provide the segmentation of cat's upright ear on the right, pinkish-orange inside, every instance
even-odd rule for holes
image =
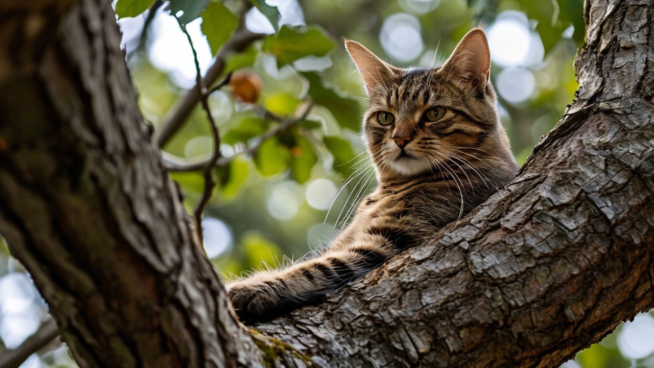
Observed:
[[[490,77],[490,50],[484,31],[475,28],[466,33],[441,70],[457,81],[483,90]]]

